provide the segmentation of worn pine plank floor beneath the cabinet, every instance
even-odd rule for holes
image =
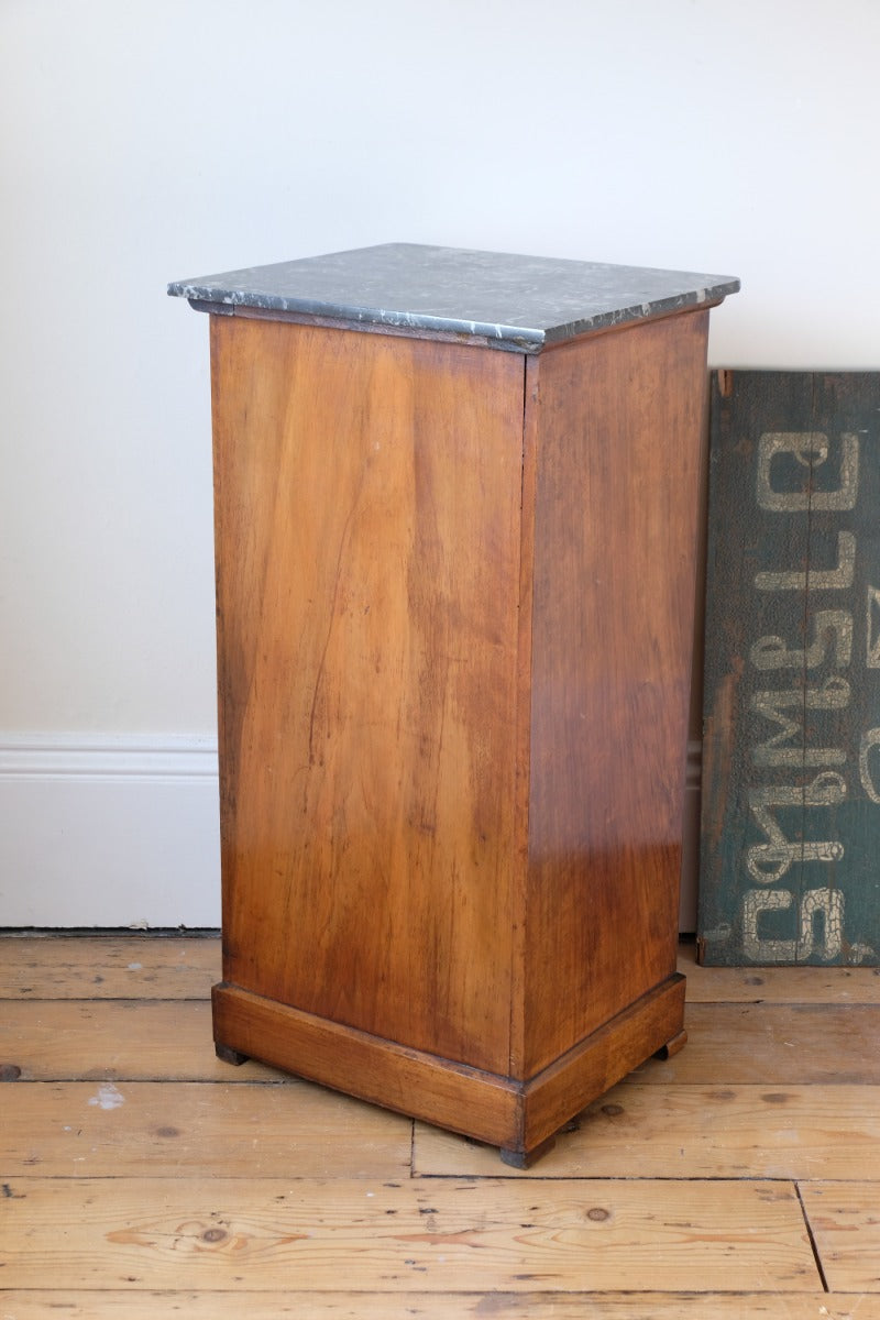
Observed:
[[[0,1320],[880,1320],[880,975],[682,970],[517,1173],[218,1063],[215,940],[0,940]]]

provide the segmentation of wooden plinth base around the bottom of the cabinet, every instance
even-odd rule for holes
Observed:
[[[669,977],[528,1081],[408,1049],[226,982],[214,986],[222,1059],[284,1068],[334,1090],[499,1146],[528,1167],[591,1101],[682,1034],[685,978]]]

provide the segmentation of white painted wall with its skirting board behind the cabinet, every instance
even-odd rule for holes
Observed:
[[[714,363],[877,368],[879,50],[875,0],[0,0],[0,925],[218,920],[208,799],[156,807],[214,730],[168,280],[398,239],[732,273]],[[98,788],[53,865],[71,766],[144,737],[142,875],[96,875]]]

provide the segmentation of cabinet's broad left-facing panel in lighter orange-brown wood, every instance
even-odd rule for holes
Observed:
[[[505,1073],[521,359],[212,321],[224,977]]]

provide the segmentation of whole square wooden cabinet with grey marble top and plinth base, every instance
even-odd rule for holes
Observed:
[[[521,1166],[681,1036],[738,286],[412,244],[170,286],[211,326],[223,1057]]]

